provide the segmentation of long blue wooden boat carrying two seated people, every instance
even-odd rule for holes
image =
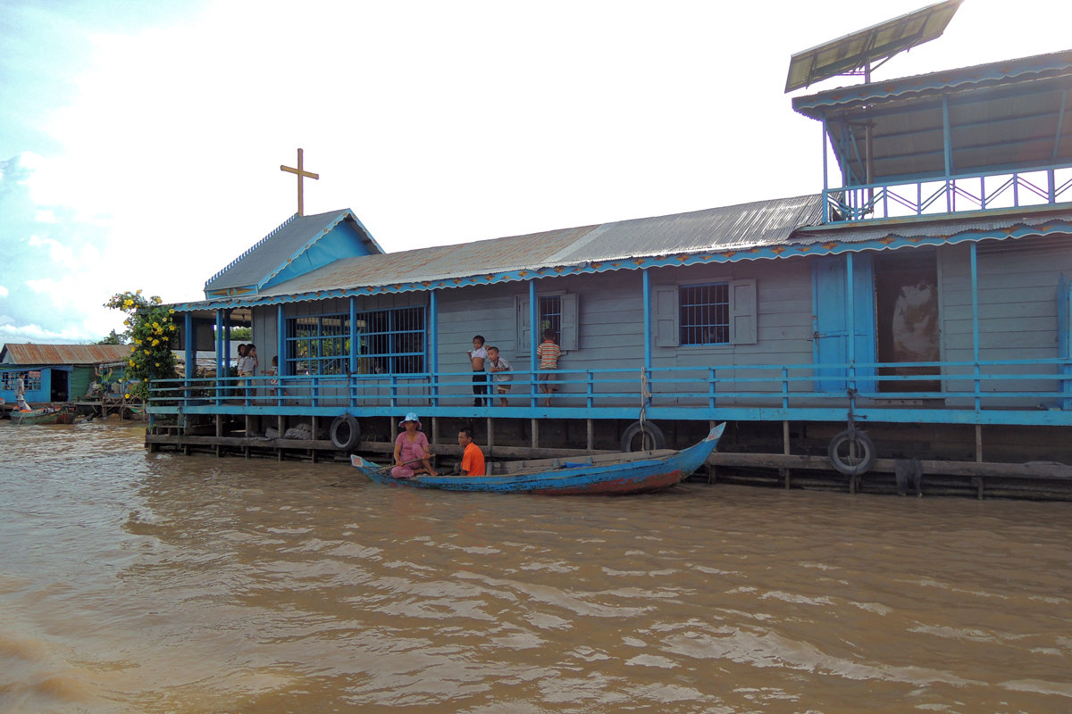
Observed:
[[[438,488],[450,491],[504,491],[542,495],[619,495],[643,493],[668,488],[699,469],[718,445],[726,424],[688,449],[599,454],[576,460],[530,459],[494,464],[486,476],[430,476],[421,474],[394,478],[390,466],[379,466],[367,458],[351,456],[353,464],[371,481],[412,488]]]

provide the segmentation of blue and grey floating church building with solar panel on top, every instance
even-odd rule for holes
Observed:
[[[726,421],[714,462],[787,485],[911,457],[980,489],[1069,475],[1022,462],[1072,464],[1072,50],[869,77],[958,4],[793,57],[787,91],[866,73],[792,98],[814,195],[400,253],[349,210],[299,210],[173,306],[178,349],[228,354],[249,325],[278,374],[154,383],[149,446],[388,451],[415,411],[434,443],[470,425],[510,457],[680,447]],[[477,334],[508,393],[474,394]]]

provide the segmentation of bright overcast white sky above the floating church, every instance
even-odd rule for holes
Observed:
[[[851,12],[846,10],[847,4]],[[205,280],[291,216],[388,252],[821,188],[789,57],[926,0],[0,0],[0,343]],[[159,6],[154,6],[159,5]],[[1068,0],[965,0],[876,78],[1069,49]]]

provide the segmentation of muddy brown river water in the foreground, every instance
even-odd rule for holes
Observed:
[[[1069,503],[0,456],[2,712],[1072,711]]]

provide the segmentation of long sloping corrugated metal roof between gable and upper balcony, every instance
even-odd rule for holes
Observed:
[[[822,203],[817,195],[757,201],[461,245],[343,258],[258,294],[419,284],[585,262],[740,250],[784,243],[794,229],[818,225],[821,217]]]

